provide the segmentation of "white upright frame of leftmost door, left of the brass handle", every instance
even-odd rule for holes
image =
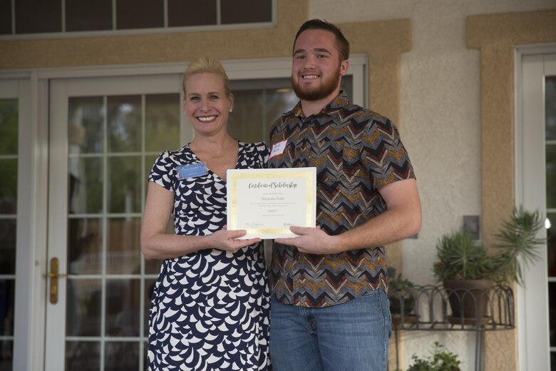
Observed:
[[[43,357],[42,254],[46,250],[46,126],[38,123],[43,112],[39,97],[46,84],[36,73],[2,73],[0,98],[19,100],[18,200],[16,230],[16,287],[14,303],[14,370],[40,370]],[[38,346],[37,346],[38,344]]]

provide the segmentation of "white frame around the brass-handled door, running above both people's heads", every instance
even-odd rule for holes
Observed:
[[[291,57],[222,61],[231,80],[289,78]],[[353,54],[348,73],[353,75],[353,103],[368,106],[367,56]],[[186,63],[41,68],[0,71],[0,83],[19,79],[26,89],[19,128],[18,248],[14,323],[14,370],[44,370],[46,328],[48,228],[48,85],[58,78],[102,78],[183,73]]]

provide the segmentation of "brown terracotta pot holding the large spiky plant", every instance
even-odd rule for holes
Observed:
[[[452,308],[452,319],[473,319],[479,322],[487,317],[487,305],[492,280],[444,280],[444,289]]]

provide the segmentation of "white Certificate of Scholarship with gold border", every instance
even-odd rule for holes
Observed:
[[[227,228],[241,239],[295,237],[290,225],[314,227],[316,168],[232,169],[227,176]]]

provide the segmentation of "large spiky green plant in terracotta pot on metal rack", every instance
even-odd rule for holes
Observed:
[[[503,285],[514,281],[523,284],[520,259],[526,265],[537,260],[536,238],[544,221],[538,211],[514,208],[510,220],[504,220],[493,252],[460,230],[443,235],[436,244],[438,261],[433,265],[436,279],[448,293],[453,317],[482,319],[493,283]]]

